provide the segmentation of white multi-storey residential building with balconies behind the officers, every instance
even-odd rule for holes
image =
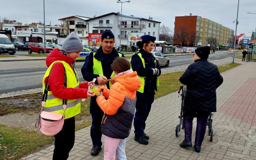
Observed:
[[[128,33],[138,32],[146,35],[155,36],[156,40],[159,38],[160,23],[149,19],[134,17],[133,15],[122,15],[119,13],[108,13],[92,19],[86,20],[89,24],[89,33],[102,33],[109,29],[115,35],[115,45],[120,44],[120,26],[121,26],[121,44],[128,44]],[[136,45],[135,42],[128,45]]]

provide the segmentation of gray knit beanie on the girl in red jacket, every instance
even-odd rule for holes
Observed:
[[[71,32],[64,40],[61,50],[64,52],[77,52],[82,51],[84,48],[80,38],[76,36],[75,32]]]

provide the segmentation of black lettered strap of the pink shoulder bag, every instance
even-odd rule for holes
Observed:
[[[55,62],[57,63],[57,62]],[[54,63],[54,64],[55,64]],[[53,65],[54,65],[53,64]],[[61,63],[63,65],[63,63]],[[52,66],[53,66],[52,65]],[[63,68],[64,68],[64,86],[65,88],[67,88],[67,74],[66,74],[66,69],[65,69],[65,66],[63,65]],[[51,70],[49,72],[49,76],[50,76],[50,73],[51,73]],[[46,84],[45,84],[45,88],[44,88],[44,94],[43,94],[43,99],[42,99],[42,109],[41,109],[41,112],[43,110],[43,107],[46,103],[46,99],[47,99],[47,95],[48,95],[48,89],[49,89],[49,84],[48,84],[48,81],[49,81],[49,76],[47,78],[47,81],[46,81]],[[65,117],[65,111],[66,111],[66,108],[67,108],[67,100],[62,100],[62,109],[64,111],[64,117]]]

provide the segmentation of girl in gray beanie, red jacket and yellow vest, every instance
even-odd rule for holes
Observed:
[[[44,111],[60,113],[63,115],[63,100],[67,100],[65,120],[62,130],[55,134],[53,158],[68,159],[68,154],[75,142],[75,116],[80,113],[80,99],[94,96],[88,87],[93,82],[79,83],[75,68],[75,59],[83,50],[83,44],[75,32],[71,32],[61,47],[54,48],[46,57],[48,67],[43,78],[43,91],[48,81]],[[66,77],[65,77],[66,76]],[[66,81],[67,87],[64,83]]]

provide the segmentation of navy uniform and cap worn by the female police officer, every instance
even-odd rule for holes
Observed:
[[[149,40],[151,42],[155,42],[156,39],[151,40],[153,36],[142,36],[143,40]],[[154,37],[156,38],[156,37]],[[161,75],[161,69],[156,61],[154,62],[155,57],[152,54],[147,53],[142,48],[139,51],[141,53],[141,57],[145,61],[145,68],[143,67],[142,61],[137,53],[132,55],[131,66],[133,71],[137,71],[138,76],[145,77],[145,86],[144,92],[136,92],[137,101],[136,101],[136,113],[134,116],[134,133],[135,137],[143,137],[144,130],[146,127],[146,120],[148,114],[151,109],[151,105],[154,102],[155,91],[157,91],[156,87],[156,78]],[[153,69],[158,69],[158,74],[153,75]]]

